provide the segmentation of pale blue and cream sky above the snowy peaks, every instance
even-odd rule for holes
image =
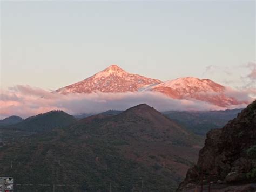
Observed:
[[[1,50],[3,88],[56,89],[111,64],[237,86],[255,62],[255,2],[2,1]]]

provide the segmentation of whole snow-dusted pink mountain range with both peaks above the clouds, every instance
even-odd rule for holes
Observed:
[[[62,94],[138,91],[159,92],[172,99],[195,99],[221,107],[248,104],[246,100],[239,101],[235,97],[228,95],[225,86],[217,84],[210,79],[185,77],[162,82],[158,79],[128,73],[117,65],[111,65],[89,78],[56,90],[56,92]]]

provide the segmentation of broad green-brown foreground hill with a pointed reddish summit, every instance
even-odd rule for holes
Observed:
[[[17,183],[72,185],[55,191],[107,191],[110,185],[113,191],[173,191],[196,161],[201,143],[142,104],[2,147],[1,174],[14,176]],[[22,188],[28,191],[17,186]]]

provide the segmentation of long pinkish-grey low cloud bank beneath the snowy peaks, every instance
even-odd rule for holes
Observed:
[[[231,93],[232,94],[232,93]],[[246,93],[241,94],[244,98]],[[198,100],[175,100],[158,92],[129,93],[91,93],[62,95],[28,85],[17,85],[8,90],[1,90],[0,118],[18,115],[27,118],[53,109],[63,110],[69,114],[100,113],[109,109],[125,110],[134,105],[146,103],[158,111],[169,110],[221,110],[207,102]],[[241,108],[245,105],[230,106]]]

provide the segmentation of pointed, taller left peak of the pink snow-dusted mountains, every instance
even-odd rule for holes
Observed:
[[[97,91],[122,93],[138,91],[140,87],[158,83],[161,83],[161,81],[139,76],[138,74],[131,74],[117,65],[111,65],[89,78],[56,91],[62,94],[92,93]]]

